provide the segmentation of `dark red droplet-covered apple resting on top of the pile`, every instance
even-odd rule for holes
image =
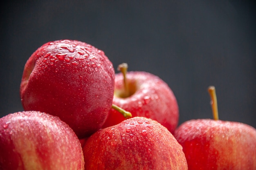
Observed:
[[[103,51],[76,40],[48,42],[25,64],[22,106],[60,117],[83,138],[106,120],[114,79],[115,70]]]

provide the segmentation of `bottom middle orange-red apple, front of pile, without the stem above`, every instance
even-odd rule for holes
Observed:
[[[171,132],[145,117],[95,132],[83,152],[86,170],[187,170],[182,147]]]

